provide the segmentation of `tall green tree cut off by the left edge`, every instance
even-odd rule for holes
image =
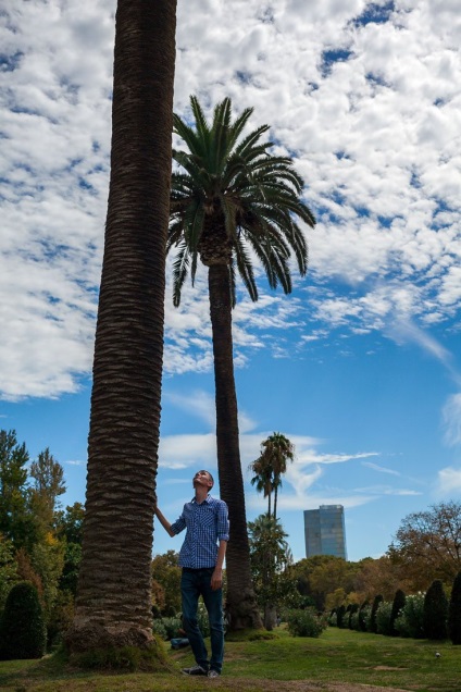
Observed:
[[[0,430],[0,533],[21,547],[33,531],[27,508],[27,468],[25,444],[20,445],[14,430]]]

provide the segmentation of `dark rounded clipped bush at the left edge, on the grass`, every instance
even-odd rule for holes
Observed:
[[[8,594],[0,623],[0,658],[41,658],[47,646],[47,628],[33,584],[23,581]]]

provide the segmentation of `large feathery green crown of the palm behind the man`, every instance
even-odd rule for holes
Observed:
[[[289,257],[296,257],[304,275],[308,246],[296,219],[311,227],[315,219],[300,199],[301,176],[288,157],[273,156],[272,141],[261,141],[269,131],[262,125],[241,137],[253,109],[247,108],[232,122],[232,103],[219,103],[209,125],[196,97],[190,98],[195,128],[174,115],[174,132],[188,151],[173,150],[179,170],[173,172],[171,223],[167,250],[176,248],[174,305],[189,267],[191,280],[197,257],[207,267],[226,264],[235,305],[235,268],[252,300],[258,288],[251,250],[262,263],[272,288],[291,292]]]

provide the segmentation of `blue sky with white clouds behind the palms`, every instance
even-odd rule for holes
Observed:
[[[0,10],[0,428],[32,459],[50,448],[64,506],[85,499],[114,10]],[[178,0],[175,112],[190,94],[208,114],[226,96],[252,107],[317,219],[292,294],[258,271],[259,301],[240,286],[233,316],[247,517],[266,507],[248,466],[281,432],[296,560],[306,509],[344,505],[359,560],[410,512],[461,501],[460,46],[458,0]],[[216,459],[205,274],[175,309],[166,271],[158,497],[173,521]],[[155,526],[154,553],[180,544]]]

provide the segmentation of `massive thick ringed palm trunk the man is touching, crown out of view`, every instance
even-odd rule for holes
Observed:
[[[71,652],[153,646],[153,508],[170,212],[175,0],[119,0],[112,150]]]

